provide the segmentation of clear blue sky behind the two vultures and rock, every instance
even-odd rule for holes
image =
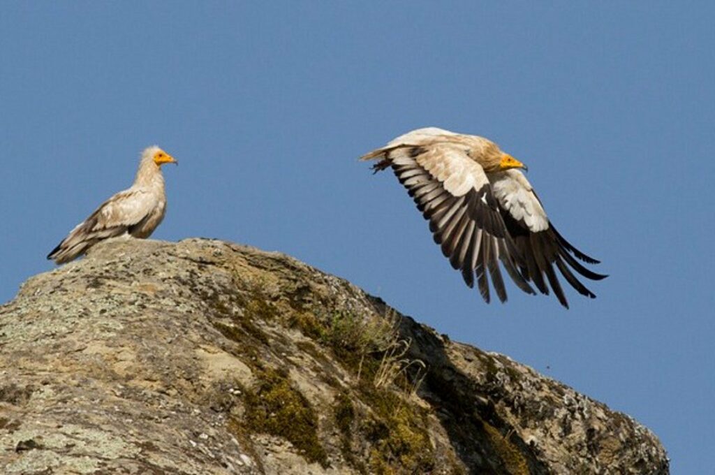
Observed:
[[[157,143],[153,237],[280,250],[715,466],[715,7],[707,2],[4,2],[0,301]],[[357,158],[410,129],[526,162],[611,275],[596,300],[485,305],[412,200]]]

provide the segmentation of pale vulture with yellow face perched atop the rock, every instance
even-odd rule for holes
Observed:
[[[161,170],[164,163],[177,161],[157,146],[145,149],[134,185],[102,203],[84,222],[75,226],[47,258],[63,264],[109,237],[149,237],[167,210]]]

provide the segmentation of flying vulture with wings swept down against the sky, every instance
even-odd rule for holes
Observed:
[[[360,160],[378,160],[375,172],[392,167],[429,220],[435,243],[470,288],[476,280],[485,302],[490,300],[488,275],[499,300],[506,301],[499,261],[518,288],[535,295],[533,283],[548,295],[551,285],[566,308],[553,266],[578,293],[596,297],[573,270],[591,280],[606,278],[578,262],[598,260],[558,233],[518,170],[526,165],[494,142],[428,127],[401,135]]]

